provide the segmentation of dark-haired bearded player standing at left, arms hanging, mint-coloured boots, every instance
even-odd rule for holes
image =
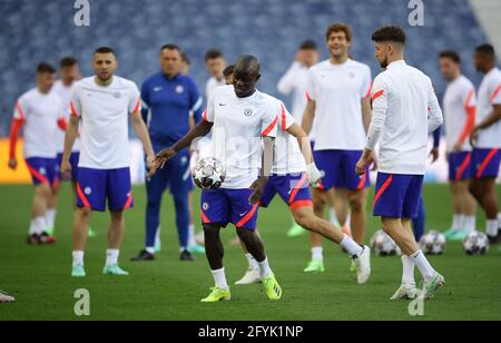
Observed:
[[[124,212],[134,206],[130,183],[129,128],[143,143],[148,177],[156,171],[155,153],[148,129],[140,114],[141,104],[137,86],[115,76],[117,58],[108,47],[94,55],[94,77],[75,85],[71,96],[71,117],[65,137],[61,174],[69,178],[71,151],[80,131],[80,160],[78,163],[78,209],[73,222],[73,267],[71,275],[86,276],[84,252],[87,244],[89,218],[92,210],[105,212],[108,203],[110,225],[105,275],[128,275],[118,265],[125,232]]]

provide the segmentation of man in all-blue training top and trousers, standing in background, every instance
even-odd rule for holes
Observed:
[[[146,121],[155,151],[174,145],[190,129],[190,118],[202,118],[203,99],[188,76],[181,75],[180,49],[166,45],[160,49],[161,71],[148,78],[141,88],[143,119]],[[167,188],[176,207],[180,259],[194,261],[189,252],[189,196],[193,190],[189,150],[184,149],[165,168],[146,180],[146,248],[132,258],[135,262],[155,259],[155,243],[160,226],[161,198]],[[194,229],[194,228],[193,228]],[[194,233],[191,233],[191,236]],[[158,252],[159,247],[157,247]]]

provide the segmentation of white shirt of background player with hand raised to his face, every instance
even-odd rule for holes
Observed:
[[[281,94],[292,95],[292,115],[297,125],[303,125],[303,115],[307,105],[306,87],[308,82],[310,68],[298,61],[292,63],[291,68],[281,78],[277,89]],[[312,127],[310,138],[315,140],[316,127]]]

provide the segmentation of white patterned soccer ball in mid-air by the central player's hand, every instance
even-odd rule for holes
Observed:
[[[225,166],[213,157],[203,158],[191,170],[195,185],[202,189],[217,189],[226,178]]]

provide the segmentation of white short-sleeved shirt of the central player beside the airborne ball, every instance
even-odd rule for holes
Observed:
[[[281,102],[261,91],[238,98],[233,86],[214,89],[204,120],[214,122],[214,158],[225,165],[222,188],[248,189],[262,168],[262,137],[276,137]]]

